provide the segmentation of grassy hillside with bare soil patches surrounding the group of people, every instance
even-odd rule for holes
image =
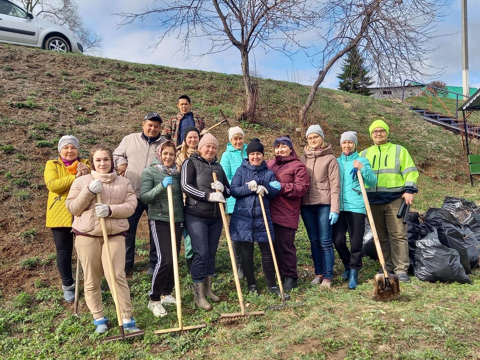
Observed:
[[[242,80],[238,75],[180,70],[77,54],[55,54],[37,49],[0,45],[0,349],[6,359],[473,359],[480,356],[478,306],[480,273],[474,285],[402,285],[402,300],[378,304],[370,299],[375,264],[366,260],[362,285],[348,291],[337,276],[333,291],[310,286],[313,275],[310,245],[303,226],[296,239],[300,288],[295,300],[306,306],[235,324],[220,324],[220,312],[237,312],[236,294],[222,239],[217,255],[216,285],[223,302],[213,312],[193,306],[191,282],[184,260],[180,273],[184,323],[206,322],[206,329],[182,335],[156,336],[153,330],[172,327],[175,312],[156,320],[146,309],[150,279],[144,275],[148,253],[145,219],[139,226],[135,274],[129,279],[134,316],[146,330],[135,342],[100,345],[93,336],[91,315],[80,301],[81,318],[72,316],[72,305],[62,299],[55,248],[44,228],[47,190],[45,162],[57,155],[61,135],[80,139],[86,155],[95,144],[115,147],[130,132],[140,131],[148,111],[162,118],[176,114],[176,99],[186,93],[192,111],[208,125],[222,109],[231,123],[241,110]],[[259,108],[255,124],[240,123],[248,139],[259,137],[266,157],[273,141],[288,133],[298,153],[304,144],[298,127],[298,102],[308,88],[270,79],[259,79]],[[419,120],[405,106],[322,89],[310,112],[320,123],[326,140],[340,153],[340,134],[359,133],[359,148],[370,145],[368,126],[383,118],[391,140],[406,146],[420,169],[420,192],[414,209],[424,212],[439,206],[445,195],[480,199],[471,188],[460,138]],[[225,149],[227,128],[213,132]],[[256,261],[259,268],[259,259]],[[260,275],[263,279],[263,276]],[[242,283],[245,286],[246,284]],[[264,288],[264,281],[260,282]],[[278,303],[271,296],[246,295],[249,309]],[[106,311],[114,319],[109,291]],[[116,329],[110,334],[115,334]]]

